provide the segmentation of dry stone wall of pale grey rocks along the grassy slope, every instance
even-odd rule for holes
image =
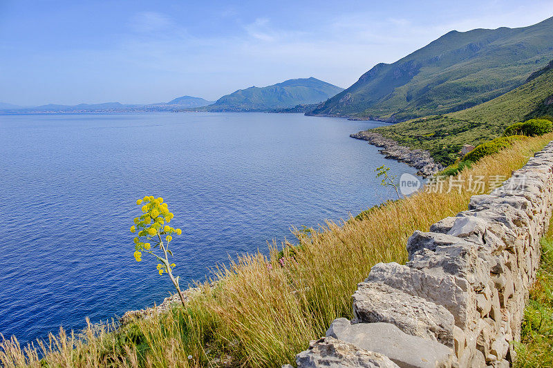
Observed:
[[[552,204],[553,142],[467,211],[415,231],[407,264],[376,264],[355,318],[332,322],[298,367],[509,367]]]

